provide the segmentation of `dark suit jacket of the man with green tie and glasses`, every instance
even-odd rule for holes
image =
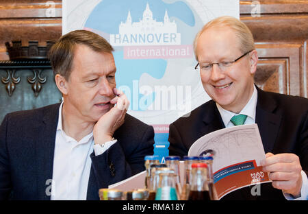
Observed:
[[[308,171],[308,99],[269,93],[257,88],[255,123],[261,134],[265,152],[294,153],[300,157],[303,170]],[[194,141],[201,136],[225,128],[213,100],[192,110],[170,124],[169,154],[185,156]],[[214,160],[215,161],[215,160]],[[285,199],[281,190],[271,183],[261,185],[261,196],[253,197],[250,188],[224,196],[231,200]]]

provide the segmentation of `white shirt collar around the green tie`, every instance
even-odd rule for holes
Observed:
[[[216,103],[216,106],[218,108],[218,111],[220,112],[222,121],[224,122],[224,126],[227,127],[228,123],[230,122],[230,119],[234,115],[247,115],[248,117],[253,119],[253,121],[255,121],[255,108],[257,106],[257,97],[258,97],[257,88],[255,88],[255,85],[253,85],[253,95],[251,95],[251,99],[249,99],[248,103],[240,111],[239,114],[235,114],[234,112],[225,110],[218,103]]]

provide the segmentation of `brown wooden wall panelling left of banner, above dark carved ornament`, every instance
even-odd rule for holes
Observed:
[[[62,34],[62,1],[6,0],[0,3],[0,60],[9,60],[5,42],[57,40]]]

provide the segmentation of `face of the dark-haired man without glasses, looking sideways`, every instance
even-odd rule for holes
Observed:
[[[112,108],[115,97],[116,66],[112,53],[93,51],[77,45],[73,67],[62,94],[70,114],[86,122],[96,122]]]

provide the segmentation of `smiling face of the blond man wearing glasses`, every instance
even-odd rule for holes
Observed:
[[[230,62],[242,56],[240,43],[229,27],[211,27],[198,38],[196,53],[200,67],[204,63]],[[222,108],[240,112],[253,94],[253,75],[257,51],[251,51],[222,71],[217,64],[210,71],[200,71],[203,88]]]

